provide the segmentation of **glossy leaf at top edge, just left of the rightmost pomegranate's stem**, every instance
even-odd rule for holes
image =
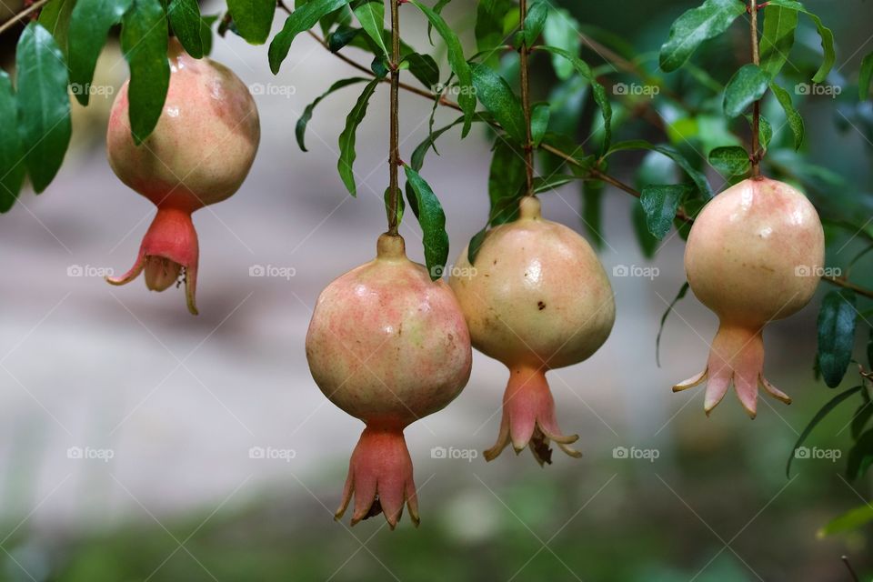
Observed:
[[[669,73],[685,65],[697,46],[728,30],[745,12],[746,3],[738,0],[706,0],[703,5],[679,16],[670,26],[667,42],[661,46],[661,69]]]

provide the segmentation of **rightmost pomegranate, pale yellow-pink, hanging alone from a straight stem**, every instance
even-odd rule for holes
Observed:
[[[775,180],[752,178],[731,186],[703,208],[685,250],[688,284],[718,316],[707,367],[673,391],[708,379],[707,415],[733,383],[756,415],[758,385],[791,403],[764,377],[764,326],[808,304],[824,266],[825,236],[806,196]]]

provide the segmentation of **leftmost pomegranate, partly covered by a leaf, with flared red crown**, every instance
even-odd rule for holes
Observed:
[[[146,270],[146,286],[163,291],[184,275],[188,310],[197,313],[197,233],[191,213],[233,196],[255,159],[260,125],[239,77],[208,58],[187,55],[170,39],[170,85],[155,131],[140,146],[130,133],[127,85],[106,134],[109,165],[125,185],[157,206],[133,268],[108,277],[124,285]]]

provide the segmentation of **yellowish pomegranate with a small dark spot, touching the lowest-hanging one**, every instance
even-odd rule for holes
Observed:
[[[509,368],[497,444],[529,445],[540,465],[551,463],[549,441],[572,457],[577,435],[557,426],[549,369],[577,364],[597,351],[612,330],[616,304],[607,274],[584,238],[540,214],[526,197],[520,216],[490,230],[471,266],[462,253],[450,281],[473,346]]]

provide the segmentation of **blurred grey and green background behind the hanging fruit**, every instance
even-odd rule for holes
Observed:
[[[219,10],[211,4],[204,14]],[[585,25],[643,55],[657,51],[670,23],[697,3],[654,4],[565,2]],[[873,48],[873,5],[806,5],[838,39],[831,82],[854,82]],[[470,6],[457,1],[445,12],[465,38]],[[0,20],[18,10],[3,5]],[[428,49],[422,19],[405,14],[406,40]],[[276,16],[276,25],[283,21]],[[7,71],[14,36],[3,39]],[[818,38],[808,23],[798,45],[815,58]],[[724,83],[747,59],[746,46],[738,27],[696,60],[723,62],[724,74],[710,73]],[[181,290],[158,295],[141,281],[103,281],[110,269],[133,264],[154,214],[106,163],[113,95],[96,95],[87,110],[75,105],[75,143],[61,174],[38,197],[25,191],[0,219],[0,579],[851,580],[842,556],[862,579],[873,576],[869,529],[817,537],[830,519],[870,499],[869,479],[842,475],[848,416],[832,417],[809,442],[843,458],[798,459],[786,477],[794,441],[832,396],[812,372],[819,298],[766,333],[768,378],[795,404],[762,396],[750,422],[728,396],[707,418],[701,389],[673,395],[670,386],[702,369],[717,319],[689,294],[667,319],[657,366],[658,322],[685,281],[684,243],[668,236],[648,260],[630,218],[637,202],[612,188],[603,199],[607,273],[652,268],[648,276],[611,277],[617,322],[607,344],[549,374],[558,420],[579,434],[585,456],[556,452],[554,464],[540,468],[528,451],[507,452],[486,463],[480,452],[497,437],[507,370],[477,354],[463,394],[406,430],[421,527],[414,531],[408,518],[395,532],[382,517],[353,529],[347,517],[334,522],[363,426],[312,382],[304,339],[320,290],[370,260],[384,230],[386,87],[358,136],[365,146],[353,199],[336,175],[336,139],[356,91],[319,105],[309,153],[298,150],[294,127],[308,103],[354,71],[305,35],[278,76],[266,47],[232,34],[216,37],[212,56],[260,87],[263,138],[239,193],[196,214],[200,316],[187,315]],[[369,63],[364,54],[358,60]],[[650,59],[645,66],[654,70]],[[95,85],[117,87],[125,76],[112,45]],[[549,83],[537,73],[539,97]],[[409,156],[426,136],[431,105],[403,97]],[[827,96],[804,105],[806,148],[846,180],[848,192],[839,194],[868,204],[860,195],[871,179],[869,135],[850,115],[843,117],[851,127],[835,123],[836,110]],[[627,135],[653,131],[641,127],[628,125]],[[664,141],[657,133],[651,139]],[[446,208],[456,256],[487,216],[490,142],[479,130],[441,143],[424,176]],[[639,162],[625,156],[612,172],[632,182]],[[580,198],[578,186],[543,195],[544,214],[585,232]],[[406,220],[401,234],[422,260],[415,221]],[[854,277],[870,286],[865,269]]]

